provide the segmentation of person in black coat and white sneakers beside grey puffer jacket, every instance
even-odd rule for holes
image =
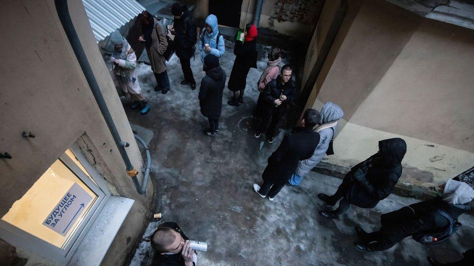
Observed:
[[[280,146],[268,158],[268,165],[263,171],[263,184],[254,184],[254,191],[270,201],[285,186],[289,177],[295,172],[298,162],[313,155],[320,136],[313,132],[313,127],[321,120],[317,110],[308,109],[303,115],[302,125],[283,137]]]

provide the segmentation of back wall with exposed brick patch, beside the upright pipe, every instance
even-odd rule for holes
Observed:
[[[254,20],[256,0],[243,0],[240,28]],[[309,39],[318,21],[324,0],[264,0],[260,27],[295,38]]]

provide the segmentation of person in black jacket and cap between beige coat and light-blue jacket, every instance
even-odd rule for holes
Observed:
[[[171,14],[174,16],[174,31],[171,32],[175,35],[174,48],[185,77],[181,84],[190,83],[191,89],[194,90],[196,89],[196,81],[191,70],[191,57],[196,50],[194,46],[197,41],[196,23],[194,23],[185,5],[173,4]]]

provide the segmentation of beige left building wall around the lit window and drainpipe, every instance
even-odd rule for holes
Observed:
[[[119,134],[123,141],[130,143],[127,153],[139,170],[143,165],[142,157],[82,2],[69,0],[68,3]],[[0,159],[0,184],[4,190],[0,195],[0,215],[3,216],[12,203],[23,196],[58,156],[77,142],[106,180],[111,193],[135,200],[117,236],[120,239],[115,241],[122,245],[111,246],[109,252],[114,256],[106,263],[121,265],[147,222],[152,182],[149,182],[146,197],[138,195],[56,15],[54,1],[11,0],[1,9],[0,15],[3,36],[0,49],[5,51],[0,66],[3,73],[0,80],[0,152],[13,156],[12,159]],[[23,138],[21,132],[24,130],[33,132],[36,137]],[[140,182],[142,178],[140,173]],[[21,252],[20,247],[17,250]],[[28,257],[30,254],[22,255]]]

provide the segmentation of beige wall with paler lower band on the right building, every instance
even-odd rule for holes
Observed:
[[[345,112],[323,166],[347,171],[401,137],[406,184],[433,188],[472,167],[474,31],[384,1],[348,1],[347,16],[306,104]]]

